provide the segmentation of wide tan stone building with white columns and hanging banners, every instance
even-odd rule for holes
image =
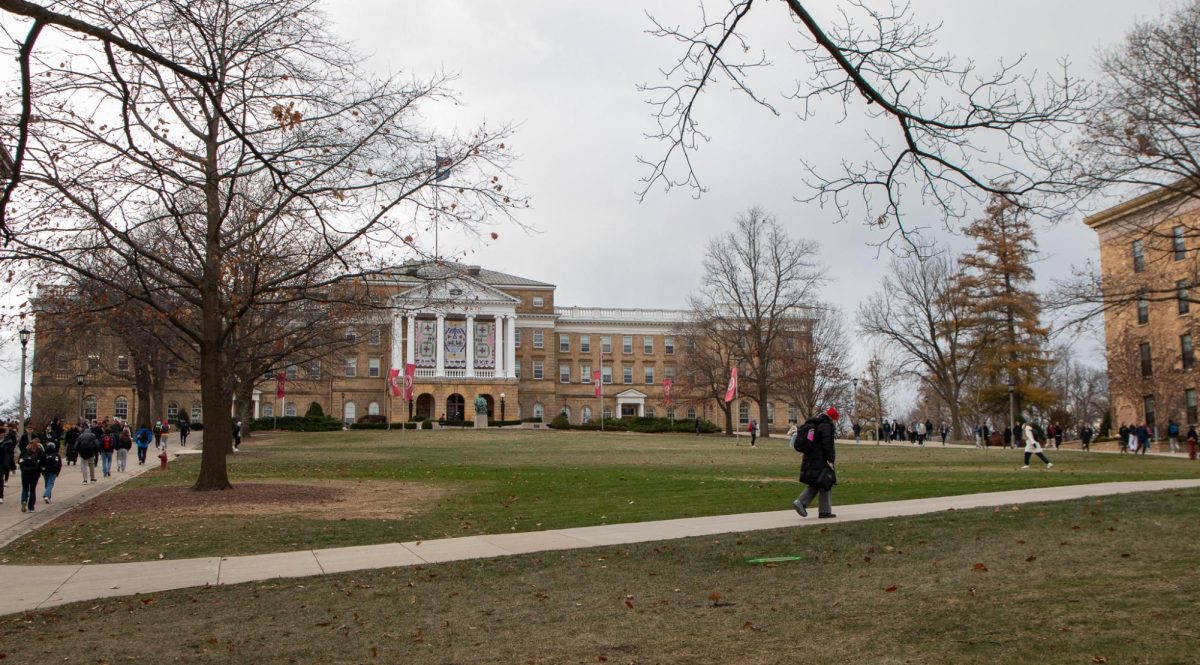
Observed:
[[[371,286],[390,306],[347,322],[344,351],[287,366],[283,399],[276,399],[275,376],[262,377],[252,397],[256,418],[304,415],[316,402],[348,423],[365,415],[392,423],[469,420],[475,397],[482,396],[493,420],[548,421],[562,413],[574,424],[601,414],[698,417],[721,424],[710,400],[678,393],[671,405],[665,400],[664,381],[674,383],[690,343],[676,332],[686,310],[557,306],[553,284],[460,264],[406,265],[373,277]],[[35,346],[47,335],[47,326],[36,325]],[[119,340],[106,339],[85,352],[56,351],[40,359],[34,365],[35,419],[40,402],[65,401],[72,415],[78,409],[88,418],[145,420],[134,413],[126,357]],[[402,371],[408,363],[415,365],[410,405],[391,400],[388,390],[389,370]],[[594,396],[594,372],[602,382],[600,399]],[[174,364],[167,375],[164,413],[155,417],[203,421],[196,379]],[[757,418],[750,399],[734,407],[734,423],[743,429]],[[797,419],[796,409],[782,403],[770,411],[778,413],[770,423],[775,429]]]

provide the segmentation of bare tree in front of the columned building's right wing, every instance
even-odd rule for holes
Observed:
[[[815,244],[790,238],[774,217],[751,208],[732,233],[709,241],[704,254],[704,278],[691,307],[728,331],[738,379],[758,402],[760,423],[769,421],[767,405],[778,389],[778,349],[794,335],[824,281],[816,252]],[[762,436],[769,436],[767,429]]]

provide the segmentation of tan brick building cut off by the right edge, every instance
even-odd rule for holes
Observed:
[[[1157,191],[1084,220],[1100,242],[1114,427],[1198,423],[1198,209],[1193,197]]]

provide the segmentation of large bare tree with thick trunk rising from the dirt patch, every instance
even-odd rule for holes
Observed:
[[[19,113],[0,115],[0,143],[17,146],[0,258],[122,292],[197,349],[212,444],[198,490],[230,486],[227,377],[247,311],[395,263],[434,216],[472,230],[515,205],[500,181],[508,130],[424,128],[446,82],[366,74],[314,0],[80,0],[84,25],[19,0],[0,10],[34,17],[6,52],[23,85],[4,106]],[[47,25],[74,52],[42,55]],[[164,229],[186,260],[148,248]],[[284,235],[301,241],[274,270],[241,269],[254,239]],[[138,288],[88,271],[80,257],[95,253],[119,257]]]

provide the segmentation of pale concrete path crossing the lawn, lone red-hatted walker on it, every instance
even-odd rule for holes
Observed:
[[[330,575],[350,570],[493,558],[550,550],[574,550],[748,531],[827,526],[836,522],[923,515],[994,505],[1069,501],[1156,490],[1200,487],[1200,479],[1103,483],[836,507],[833,520],[802,519],[793,510],[689,517],[530,533],[503,533],[304,550],[245,557],[90,565],[0,565],[0,615],[115,595],[154,593],[205,585],[236,585],[275,577]]]

